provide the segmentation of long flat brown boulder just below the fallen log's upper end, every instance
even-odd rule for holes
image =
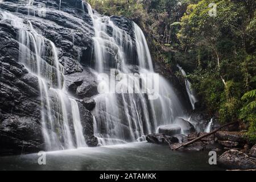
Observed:
[[[230,140],[234,142],[245,142],[241,132],[237,131],[217,131],[215,134],[218,140]]]

